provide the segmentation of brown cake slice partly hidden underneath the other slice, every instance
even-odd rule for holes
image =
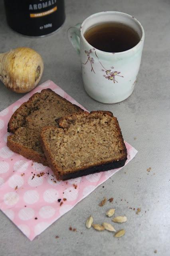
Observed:
[[[78,111],[83,112],[51,89],[44,89],[32,95],[10,118],[8,132],[14,134],[8,136],[7,146],[12,151],[47,166],[40,144],[41,129],[47,125],[57,125],[56,118]]]

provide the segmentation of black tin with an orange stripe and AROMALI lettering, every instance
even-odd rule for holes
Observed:
[[[8,25],[26,36],[45,36],[65,20],[64,0],[4,0]]]

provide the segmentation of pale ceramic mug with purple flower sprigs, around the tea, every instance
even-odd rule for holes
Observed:
[[[95,49],[87,42],[84,33],[106,22],[130,26],[138,33],[140,41],[124,52]],[[84,88],[91,98],[103,103],[117,103],[132,94],[144,44],[144,29],[136,18],[123,12],[98,12],[86,18],[82,24],[69,28],[68,37],[81,56]]]

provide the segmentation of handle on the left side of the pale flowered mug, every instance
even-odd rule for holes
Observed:
[[[67,30],[69,41],[78,54],[80,54],[80,27],[81,23],[78,23],[74,27],[71,27]]]

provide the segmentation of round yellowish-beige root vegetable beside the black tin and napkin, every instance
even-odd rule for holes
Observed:
[[[0,80],[14,92],[34,89],[42,73],[42,57],[31,48],[20,47],[0,54]]]

